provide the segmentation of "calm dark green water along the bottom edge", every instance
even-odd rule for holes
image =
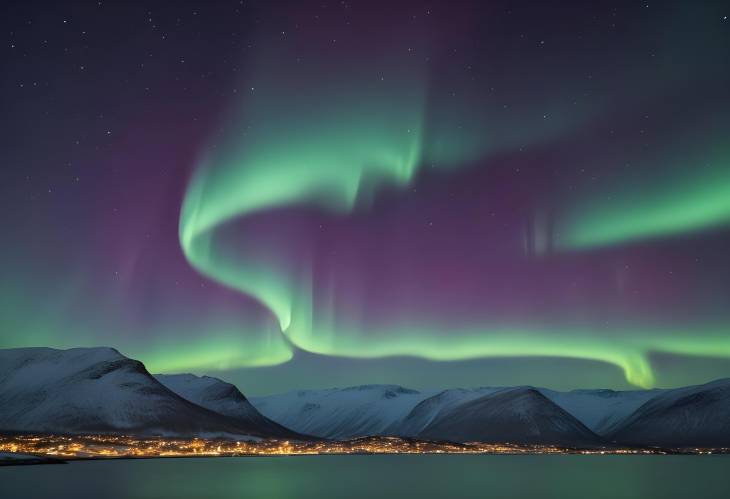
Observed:
[[[727,498],[730,456],[300,456],[0,468],[0,498]]]

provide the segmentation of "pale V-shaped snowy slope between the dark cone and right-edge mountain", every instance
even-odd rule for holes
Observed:
[[[546,388],[538,390],[599,435],[610,431],[612,426],[623,421],[639,406],[663,392],[663,390],[558,392]]]

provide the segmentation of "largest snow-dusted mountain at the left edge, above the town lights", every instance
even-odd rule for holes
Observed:
[[[112,348],[0,350],[0,431],[277,436],[213,412]]]

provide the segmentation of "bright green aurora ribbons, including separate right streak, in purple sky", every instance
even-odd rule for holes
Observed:
[[[387,66],[380,61],[383,65]],[[180,215],[180,244],[189,263],[208,278],[257,300],[280,328],[279,334],[242,331],[246,339],[227,340],[226,367],[287,362],[295,347],[359,358],[546,356],[607,362],[622,369],[628,382],[651,387],[655,383],[648,360],[651,352],[730,357],[730,339],[723,327],[710,328],[698,339],[696,331],[646,328],[609,331],[610,337],[606,331],[590,328],[558,330],[519,324],[485,324],[450,330],[448,335],[422,325],[364,334],[334,324],[328,319],[334,315],[332,311],[313,304],[310,268],[290,268],[276,258],[275,248],[263,251],[256,248],[255,241],[250,246],[227,248],[220,237],[222,229],[286,207],[314,206],[347,214],[362,208],[365,187],[407,186],[422,165],[453,168],[513,147],[513,137],[504,130],[527,132],[531,142],[537,143],[575,123],[551,123],[549,132],[507,124],[501,136],[490,136],[489,145],[484,146],[485,140],[473,133],[483,118],[474,112],[469,115],[467,111],[464,118],[475,124],[471,137],[465,130],[450,131],[453,128],[448,122],[439,130],[427,127],[426,116],[433,109],[424,85],[427,78],[418,64],[390,61],[388,79],[354,86],[352,81],[372,81],[374,71],[368,71],[366,64],[365,69],[329,68],[320,72],[326,74],[322,81],[300,82],[296,95],[282,82],[306,80],[306,76],[294,77],[270,63],[264,66],[248,80],[251,90],[241,108],[234,110],[232,130],[202,155]],[[482,134],[487,128],[481,127]],[[558,247],[606,246],[726,221],[730,217],[730,177],[727,162],[722,160],[727,157],[713,161],[707,175],[690,174],[695,182],[689,186],[679,176],[679,183],[660,186],[650,194],[627,192],[622,199],[604,198],[608,199],[605,203],[594,203],[586,210],[574,203],[572,213],[561,220],[564,235]],[[239,349],[255,353],[244,358],[230,353]],[[218,352],[220,345],[205,352],[192,348],[174,365],[151,361],[160,370],[205,367],[219,364]]]

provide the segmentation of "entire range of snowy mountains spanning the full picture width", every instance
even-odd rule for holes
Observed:
[[[153,376],[112,348],[19,348],[0,350],[3,432],[728,447],[730,379],[634,391],[363,385],[249,400],[217,378]]]

